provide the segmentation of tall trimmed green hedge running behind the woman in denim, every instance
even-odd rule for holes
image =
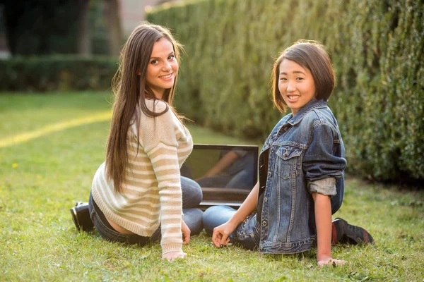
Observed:
[[[177,109],[225,133],[264,139],[273,57],[292,42],[329,49],[329,104],[350,171],[424,180],[424,3],[412,0],[206,0],[148,14],[184,44]]]

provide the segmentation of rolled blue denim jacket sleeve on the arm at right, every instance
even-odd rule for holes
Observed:
[[[346,159],[340,155],[340,142],[334,138],[330,125],[320,123],[314,127],[312,141],[305,151],[302,168],[307,182],[325,178],[341,178]]]

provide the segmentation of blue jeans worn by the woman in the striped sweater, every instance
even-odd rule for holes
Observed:
[[[181,177],[182,188],[182,209],[184,222],[190,228],[191,235],[198,235],[202,229],[201,217],[203,212],[197,209],[202,199],[202,192],[199,184],[194,180]],[[105,215],[100,211],[98,205],[93,201],[90,192],[90,199],[88,200],[88,209],[90,211],[91,220],[100,236],[105,240],[113,242],[122,242],[128,244],[146,245],[148,241],[160,240],[160,227],[151,235],[151,237],[144,237],[137,234],[123,234],[114,230],[114,228],[107,221]]]

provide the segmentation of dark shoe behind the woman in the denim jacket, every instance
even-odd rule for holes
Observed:
[[[348,221],[337,217],[332,224],[332,243],[372,244],[374,239],[364,228],[353,226]]]

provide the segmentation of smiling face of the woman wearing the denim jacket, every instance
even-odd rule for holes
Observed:
[[[279,69],[278,90],[294,116],[315,97],[312,73],[294,61],[283,59]]]

